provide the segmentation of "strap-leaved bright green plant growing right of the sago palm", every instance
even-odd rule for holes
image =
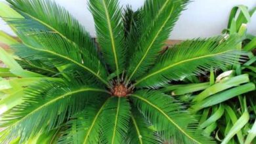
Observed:
[[[228,28],[223,31],[243,37],[244,40],[236,47],[249,52],[245,62],[222,71],[212,69],[206,77],[186,80],[194,84],[173,85],[163,89],[191,105],[190,111],[199,115],[200,128],[220,143],[255,143],[256,39],[254,35],[246,33],[247,23],[255,10],[248,10],[243,5],[234,7]]]

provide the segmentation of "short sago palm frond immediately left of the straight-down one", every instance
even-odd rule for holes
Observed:
[[[58,143],[63,144],[80,144],[80,143],[99,143],[100,132],[102,131],[101,122],[102,111],[106,107],[108,99],[104,101],[93,101],[87,108],[72,117],[67,122],[67,130],[63,136],[58,139]]]

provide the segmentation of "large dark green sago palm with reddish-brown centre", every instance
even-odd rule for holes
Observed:
[[[1,115],[2,143],[214,143],[160,88],[236,63],[244,52],[237,35],[164,52],[187,0],[146,0],[136,12],[123,12],[117,0],[90,0],[98,43],[53,1],[7,1],[12,9],[0,14],[21,40],[11,45],[16,62],[41,79],[23,86],[22,101]]]

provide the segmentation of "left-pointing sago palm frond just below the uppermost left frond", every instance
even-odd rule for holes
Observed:
[[[22,44],[13,45],[16,54],[26,60],[40,60],[45,65],[60,67],[72,65],[66,71],[85,71],[91,77],[98,79],[108,85],[107,72],[100,60],[94,56],[82,56],[77,48],[71,43],[62,41],[61,37],[53,33],[41,33],[27,37],[24,33],[19,33]],[[60,49],[61,47],[61,49]],[[96,64],[95,64],[96,63]],[[60,71],[62,72],[62,71]]]

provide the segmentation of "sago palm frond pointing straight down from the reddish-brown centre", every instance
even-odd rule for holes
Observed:
[[[106,143],[125,143],[131,106],[126,98],[113,97],[102,111],[102,135]]]

